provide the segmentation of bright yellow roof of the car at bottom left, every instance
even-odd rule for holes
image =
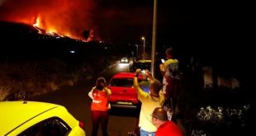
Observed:
[[[0,135],[4,135],[17,129],[21,124],[36,116],[62,107],[55,104],[37,101],[2,101],[0,102]]]

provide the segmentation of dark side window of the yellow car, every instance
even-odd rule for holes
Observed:
[[[70,130],[63,120],[55,117],[31,126],[18,136],[64,136],[68,135]]]

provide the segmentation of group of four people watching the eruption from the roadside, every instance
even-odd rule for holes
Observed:
[[[133,87],[141,102],[140,116],[137,129],[128,135],[140,136],[163,136],[174,135],[183,136],[183,128],[177,121],[170,118],[170,114],[178,113],[178,96],[180,94],[180,75],[178,59],[173,59],[173,49],[166,49],[166,61],[159,65],[160,73],[163,76],[163,82],[154,78],[149,70],[146,70],[145,77],[149,79],[149,91],[144,91],[145,87],[140,86],[138,76],[141,69],[136,69]],[[111,90],[107,88],[104,77],[99,77],[96,86],[88,96],[92,98],[92,136],[97,136],[99,125],[102,126],[103,136],[107,136],[107,122],[110,110],[108,98]],[[172,116],[171,116],[172,117]]]

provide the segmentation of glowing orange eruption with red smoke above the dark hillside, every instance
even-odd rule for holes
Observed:
[[[34,26],[42,35],[90,41],[93,0],[6,0],[0,4],[0,20]]]

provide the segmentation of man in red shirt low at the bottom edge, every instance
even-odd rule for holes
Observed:
[[[173,121],[168,120],[167,112],[161,107],[154,109],[152,123],[157,127],[155,136],[183,136],[183,132]]]

